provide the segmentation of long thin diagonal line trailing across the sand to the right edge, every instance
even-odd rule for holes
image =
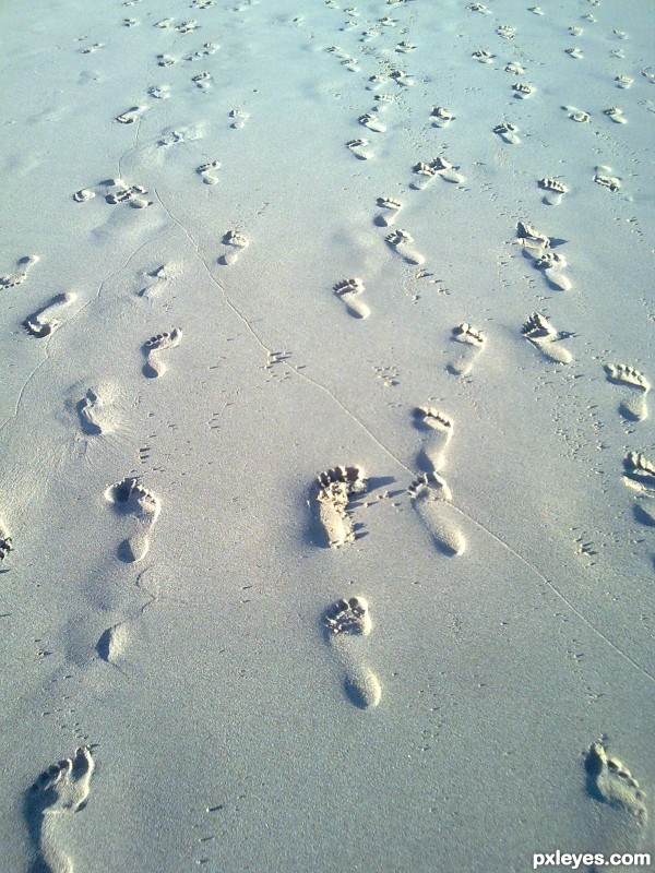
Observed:
[[[200,251],[200,246],[196,242],[196,240],[194,239],[193,235],[184,227],[184,225],[179,219],[177,219],[172,215],[172,213],[170,212],[168,206],[166,206],[166,204],[163,202],[163,200],[162,200],[162,198],[160,198],[160,195],[159,195],[159,193],[157,192],[156,189],[155,189],[154,193],[155,193],[155,196],[157,198],[157,201],[159,202],[162,208],[168,215],[171,224],[175,225],[184,235],[184,237],[187,237],[187,239],[191,243],[191,247],[193,249],[193,252],[194,252],[195,256],[198,258],[200,263],[203,265],[203,267],[204,267],[210,280],[214,283],[214,285],[218,288],[218,290],[223,295],[223,299],[224,299],[226,306],[231,310],[231,312],[235,313],[235,315],[241,322],[243,327],[252,336],[253,340],[264,351],[264,354],[271,355],[272,354],[272,349],[269,346],[266,346],[266,344],[263,340],[263,338],[259,335],[259,333],[252,326],[252,323],[241,312],[241,310],[234,303],[231,298],[228,296],[225,287],[221,284],[218,278],[212,272],[207,261],[203,258],[203,255],[202,255],[202,253]],[[164,232],[168,232],[168,230],[166,230]],[[326,385],[322,384],[318,380],[313,379],[307,372],[297,369],[294,364],[290,364],[290,370],[299,379],[301,379],[302,381],[307,382],[309,385],[312,385],[317,391],[319,391],[322,394],[326,395],[343,411],[343,414],[348,419],[350,419],[350,421],[353,421],[353,423],[356,427],[360,428],[367,434],[367,436],[372,441],[372,443],[374,445],[377,445],[378,449],[381,452],[383,452],[398,467],[398,469],[404,470],[409,476],[414,476],[415,475],[413,473],[413,470],[409,469],[409,467],[407,467],[407,465],[404,464],[403,461],[396,454],[394,454],[389,446],[384,445],[384,443],[382,443],[380,441],[380,439],[378,436],[376,436],[373,431],[369,427],[367,427],[366,422],[362,419],[358,418],[350,409],[348,409],[348,407],[343,403],[343,400],[341,400],[338,398],[338,396],[333,391],[331,391]],[[0,432],[1,432],[1,428],[0,428]],[[548,578],[546,575],[544,575],[544,573],[535,564],[533,564],[532,561],[529,561],[527,558],[524,558],[507,540],[502,539],[502,537],[498,536],[498,534],[495,534],[493,530],[491,530],[491,528],[487,527],[485,524],[479,522],[471,513],[466,512],[465,510],[460,509],[458,506],[456,506],[453,503],[451,503],[450,506],[451,506],[453,513],[456,513],[456,514],[461,515],[462,518],[465,518],[466,521],[468,521],[478,530],[480,530],[483,534],[485,534],[487,537],[489,537],[491,540],[493,540],[493,542],[496,542],[501,549],[504,549],[516,561],[519,561],[519,563],[521,563],[527,571],[529,571],[534,575],[535,578],[538,578],[539,582],[541,584],[544,584],[548,588],[548,590],[550,590],[551,594],[558,600],[560,600],[576,617],[576,619],[585,627],[588,627],[590,631],[592,631],[594,634],[596,634],[596,636],[598,636],[600,639],[603,639],[604,643],[618,657],[622,658],[624,661],[630,663],[631,667],[633,667],[642,675],[646,677],[647,679],[650,679],[655,684],[655,674],[648,672],[648,670],[645,667],[643,667],[641,663],[639,663],[639,661],[636,661],[624,649],[622,649],[617,643],[615,643],[599,626],[597,626],[590,619],[587,619],[586,615],[583,612],[581,612],[580,609],[577,609],[577,607],[575,607],[574,603],[564,595],[564,593],[559,588],[559,586],[557,585],[557,583],[555,581],[552,581],[552,579]]]

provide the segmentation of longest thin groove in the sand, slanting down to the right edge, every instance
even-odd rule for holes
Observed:
[[[247,318],[246,318],[246,316],[245,316],[245,315],[243,315],[243,314],[242,314],[242,313],[241,313],[241,312],[240,312],[240,311],[237,309],[237,307],[236,307],[236,306],[233,303],[233,301],[231,301],[231,300],[229,299],[229,297],[227,296],[227,292],[226,292],[225,288],[223,287],[223,285],[222,285],[222,284],[218,282],[218,279],[217,279],[217,278],[216,278],[216,277],[213,275],[212,271],[210,270],[210,266],[207,265],[207,262],[204,260],[204,258],[203,258],[203,256],[202,256],[202,254],[200,253],[200,248],[199,248],[198,243],[195,242],[195,240],[193,239],[192,235],[191,235],[191,234],[190,234],[190,232],[187,230],[187,228],[186,228],[186,227],[184,227],[184,226],[183,226],[183,225],[182,225],[180,222],[178,222],[178,219],[177,219],[177,218],[175,218],[175,216],[174,216],[174,215],[171,215],[170,211],[167,208],[167,206],[164,204],[164,201],[163,201],[163,200],[162,200],[162,198],[159,196],[159,192],[158,192],[156,189],[153,189],[153,192],[154,192],[155,196],[157,198],[157,200],[159,201],[159,203],[160,203],[162,207],[164,208],[164,211],[166,212],[166,214],[167,214],[167,215],[168,215],[168,217],[170,218],[170,220],[171,220],[171,222],[172,222],[175,225],[177,225],[177,227],[179,227],[179,228],[180,228],[180,230],[182,231],[182,234],[184,234],[184,236],[187,237],[187,239],[188,239],[188,240],[191,242],[191,244],[193,246],[193,249],[194,249],[194,251],[195,251],[195,256],[196,256],[196,258],[199,259],[199,261],[200,261],[200,262],[203,264],[203,266],[204,266],[204,268],[205,268],[205,271],[206,271],[207,275],[210,276],[211,280],[212,280],[212,282],[214,283],[214,285],[216,285],[216,287],[217,287],[217,288],[221,290],[221,292],[222,292],[222,295],[223,295],[223,298],[224,298],[225,302],[227,303],[227,306],[229,307],[229,309],[231,309],[231,311],[233,311],[233,312],[234,312],[234,313],[237,315],[237,318],[238,318],[238,319],[239,319],[239,320],[240,320],[240,321],[241,321],[241,322],[245,324],[245,326],[248,328],[248,331],[250,332],[250,334],[252,335],[252,337],[254,338],[254,340],[258,343],[258,345],[260,345],[260,346],[262,347],[262,349],[263,349],[263,350],[264,350],[264,351],[265,351],[267,355],[270,355],[270,354],[271,354],[271,349],[270,349],[270,348],[269,348],[269,347],[265,345],[265,343],[264,343],[264,342],[261,339],[261,337],[258,335],[258,333],[255,332],[255,330],[254,330],[254,327],[252,326],[252,324],[251,324],[251,323],[248,321],[248,319],[247,319]],[[359,428],[361,428],[361,429],[365,431],[365,433],[367,433],[367,434],[370,436],[370,439],[371,439],[371,440],[372,440],[372,441],[376,443],[376,445],[377,445],[379,449],[381,449],[381,450],[382,450],[382,452],[384,452],[384,454],[386,454],[389,457],[391,457],[391,458],[392,458],[392,459],[393,459],[393,461],[394,461],[394,462],[395,462],[395,463],[396,463],[396,464],[397,464],[397,465],[398,465],[398,466],[400,466],[402,469],[404,469],[406,473],[408,473],[408,474],[409,474],[409,476],[415,476],[415,471],[414,471],[414,470],[410,470],[410,469],[409,469],[409,467],[407,467],[405,464],[403,464],[403,462],[402,462],[402,461],[401,461],[398,457],[396,457],[396,455],[394,455],[394,454],[393,454],[393,452],[392,452],[390,449],[388,449],[388,447],[386,447],[386,446],[385,446],[383,443],[381,443],[381,442],[380,442],[380,440],[379,440],[379,439],[378,439],[378,438],[374,435],[374,433],[372,433],[372,432],[371,432],[371,431],[370,431],[370,430],[367,428],[367,426],[364,423],[364,421],[361,421],[359,418],[357,418],[357,416],[356,416],[354,412],[352,412],[352,411],[350,411],[350,410],[349,410],[349,409],[348,409],[348,408],[347,408],[347,407],[346,407],[346,406],[345,406],[345,405],[344,405],[344,404],[343,404],[343,403],[342,403],[342,402],[338,399],[338,397],[336,397],[336,395],[334,395],[334,394],[333,394],[333,393],[330,391],[330,388],[329,388],[326,385],[323,385],[323,384],[321,384],[320,382],[317,382],[317,381],[315,381],[314,379],[312,379],[311,376],[307,375],[306,373],[302,373],[302,372],[300,372],[299,370],[297,370],[297,369],[296,369],[296,367],[295,367],[294,364],[288,364],[288,366],[289,366],[289,368],[291,369],[291,371],[293,371],[293,372],[294,372],[296,375],[300,376],[300,379],[305,380],[305,381],[306,381],[306,382],[308,382],[310,385],[313,385],[314,387],[317,387],[317,388],[319,388],[320,391],[322,391],[322,392],[324,392],[325,394],[327,394],[327,395],[329,395],[329,396],[330,396],[330,397],[331,397],[331,398],[334,400],[334,403],[335,403],[335,404],[336,404],[336,405],[337,405],[337,406],[338,406],[338,407],[340,407],[340,408],[341,408],[341,409],[342,409],[342,410],[343,410],[343,411],[344,411],[344,412],[345,412],[345,414],[348,416],[348,418],[350,418],[350,419],[352,419],[352,420],[353,420],[353,421],[354,421],[354,422],[355,422],[355,423],[356,423],[356,424],[357,424]],[[464,510],[460,509],[458,506],[456,506],[456,505],[455,505],[454,503],[452,503],[452,502],[451,502],[451,504],[450,504],[450,505],[451,505],[451,506],[453,507],[453,510],[454,510],[455,512],[457,512],[457,513],[458,513],[458,514],[460,514],[460,515],[461,515],[463,518],[466,518],[468,522],[471,522],[473,525],[475,525],[475,526],[476,526],[476,527],[477,527],[479,530],[483,530],[485,534],[487,534],[489,537],[491,537],[491,538],[492,538],[492,539],[493,539],[493,540],[495,540],[497,543],[499,543],[499,545],[500,545],[500,546],[501,546],[503,549],[505,549],[505,550],[507,550],[507,551],[508,551],[508,552],[509,552],[511,555],[513,555],[513,557],[514,557],[516,560],[519,560],[519,561],[520,561],[520,562],[521,562],[521,563],[522,563],[524,566],[526,566],[526,567],[527,567],[528,570],[531,570],[531,571],[532,571],[532,572],[533,572],[533,573],[534,573],[536,576],[538,576],[538,578],[539,578],[539,579],[540,579],[540,581],[541,581],[541,582],[543,582],[543,583],[544,583],[544,584],[545,584],[545,585],[546,585],[546,586],[549,588],[549,590],[550,590],[550,591],[552,591],[552,594],[553,594],[553,595],[555,595],[555,596],[556,596],[556,597],[557,597],[559,600],[561,600],[561,602],[562,602],[562,603],[564,603],[567,607],[569,607],[569,609],[571,610],[571,612],[573,612],[573,614],[574,614],[574,615],[575,615],[577,619],[580,619],[580,621],[581,621],[583,624],[585,624],[585,625],[586,625],[586,626],[587,626],[587,627],[588,627],[588,629],[590,629],[590,630],[591,630],[593,633],[595,633],[597,636],[599,636],[599,637],[600,637],[600,639],[603,639],[603,641],[604,641],[604,642],[605,642],[605,643],[606,643],[606,644],[607,644],[607,645],[608,645],[608,646],[609,646],[609,647],[610,647],[610,648],[611,648],[611,649],[612,649],[612,650],[614,650],[614,651],[615,651],[617,655],[619,655],[619,656],[620,656],[621,658],[623,658],[623,659],[624,659],[624,660],[626,660],[628,663],[630,663],[632,667],[634,667],[634,669],[635,669],[635,670],[639,670],[639,672],[640,672],[640,673],[642,673],[643,675],[647,677],[647,678],[648,678],[648,679],[651,679],[653,682],[655,682],[655,675],[653,675],[652,673],[650,673],[650,672],[648,672],[648,671],[647,671],[647,670],[646,670],[644,667],[642,667],[642,666],[641,666],[641,665],[640,665],[638,661],[635,661],[633,658],[631,658],[631,657],[630,657],[630,655],[628,655],[626,651],[623,651],[623,650],[622,650],[622,649],[621,649],[621,648],[620,648],[620,647],[619,647],[619,646],[618,646],[616,643],[614,643],[614,642],[612,642],[612,641],[611,641],[611,639],[610,639],[608,636],[606,636],[606,635],[603,633],[603,631],[602,631],[599,627],[597,627],[595,624],[593,624],[593,622],[591,622],[591,621],[590,621],[590,620],[588,620],[588,619],[587,619],[587,618],[584,615],[584,613],[582,613],[582,612],[581,612],[579,609],[576,609],[576,607],[574,607],[574,606],[573,606],[573,603],[572,603],[572,602],[571,602],[571,601],[570,601],[570,600],[569,600],[569,599],[565,597],[565,595],[563,595],[563,594],[562,594],[562,593],[559,590],[559,588],[558,588],[558,587],[557,587],[557,586],[556,586],[556,585],[555,585],[552,582],[550,582],[550,579],[548,579],[548,578],[547,578],[547,577],[546,577],[546,576],[545,576],[545,575],[541,573],[541,571],[540,571],[540,570],[538,570],[538,569],[537,569],[537,567],[536,567],[536,566],[535,566],[533,563],[531,563],[531,561],[528,561],[526,558],[524,558],[522,554],[520,554],[520,553],[519,553],[519,552],[517,552],[515,549],[513,549],[513,548],[512,548],[512,547],[511,547],[511,546],[510,546],[508,542],[505,542],[503,539],[501,539],[501,537],[499,537],[497,534],[495,534],[495,533],[493,533],[492,530],[490,530],[488,527],[485,527],[485,525],[484,525],[481,522],[478,522],[476,518],[474,518],[474,517],[473,517],[472,515],[469,515],[467,512],[465,512]]]

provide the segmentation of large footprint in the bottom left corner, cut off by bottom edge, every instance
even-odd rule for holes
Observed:
[[[72,859],[58,846],[59,832],[64,827],[63,816],[86,805],[94,767],[91,749],[81,746],[71,757],[44,770],[26,792],[24,812],[38,853],[39,871],[73,873]]]

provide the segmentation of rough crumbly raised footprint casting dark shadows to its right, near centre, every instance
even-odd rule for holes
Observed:
[[[355,528],[347,507],[352,494],[366,491],[361,467],[335,467],[320,473],[313,493],[312,509],[320,527],[321,545],[338,547],[355,540]]]

